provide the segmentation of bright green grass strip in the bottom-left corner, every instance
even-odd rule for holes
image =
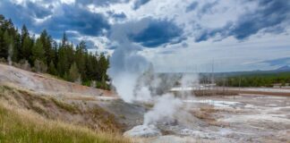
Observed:
[[[120,135],[49,121],[27,110],[0,105],[0,143],[130,142]]]

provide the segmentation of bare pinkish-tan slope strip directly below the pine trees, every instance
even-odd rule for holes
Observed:
[[[73,82],[58,80],[48,74],[24,71],[0,64],[0,84],[13,84],[36,92],[50,94],[80,94],[83,96],[114,96],[107,90],[81,86]]]

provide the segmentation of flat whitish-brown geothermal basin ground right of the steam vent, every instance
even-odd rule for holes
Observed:
[[[140,114],[124,134],[145,142],[290,142],[290,97],[239,94],[182,101],[174,120],[142,125]]]

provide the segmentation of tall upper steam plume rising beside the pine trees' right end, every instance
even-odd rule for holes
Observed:
[[[144,97],[136,94],[135,88],[140,75],[149,69],[149,62],[138,54],[141,46],[132,44],[127,36],[145,29],[147,25],[147,21],[143,21],[142,24],[134,22],[128,25],[119,24],[115,25],[110,33],[110,38],[116,42],[117,48],[110,58],[108,75],[112,78],[117,93],[125,102],[132,103]],[[142,90],[148,92],[146,88]]]

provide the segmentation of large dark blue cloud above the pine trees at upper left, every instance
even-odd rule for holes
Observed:
[[[21,5],[4,0],[0,2],[0,13],[6,18],[11,18],[16,26],[21,27],[25,24],[35,33],[47,29],[54,38],[61,38],[66,30],[77,31],[79,35],[101,36],[104,29],[110,28],[107,18],[102,13],[91,13],[79,4],[60,6],[57,13],[52,13],[51,7],[46,8],[41,4],[26,2]],[[42,19],[48,15],[50,17],[47,21],[36,22],[36,19]]]

